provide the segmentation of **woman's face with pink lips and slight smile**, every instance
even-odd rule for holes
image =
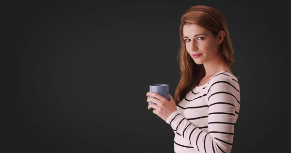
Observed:
[[[214,37],[210,31],[196,24],[184,25],[183,39],[187,52],[196,64],[212,61],[216,57],[218,45],[221,43],[218,37]]]

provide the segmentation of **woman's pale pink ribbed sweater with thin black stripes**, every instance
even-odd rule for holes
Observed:
[[[240,100],[238,79],[226,71],[188,92],[166,119],[175,153],[230,153]]]

